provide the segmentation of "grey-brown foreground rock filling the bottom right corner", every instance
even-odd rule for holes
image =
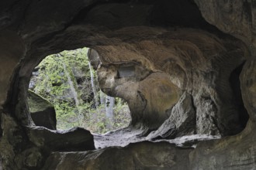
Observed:
[[[189,155],[190,169],[254,169],[256,142],[254,125],[243,133],[216,141],[204,141]]]

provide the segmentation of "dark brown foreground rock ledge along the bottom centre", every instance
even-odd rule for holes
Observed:
[[[80,153],[53,153],[43,169],[188,169],[189,151],[144,141],[126,148],[104,148]],[[109,156],[111,155],[111,156]],[[93,159],[92,159],[93,158]],[[79,163],[77,163],[79,162]],[[99,166],[100,165],[100,166]]]

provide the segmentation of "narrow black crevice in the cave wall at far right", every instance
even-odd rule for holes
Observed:
[[[234,93],[234,102],[237,104],[240,126],[244,129],[249,119],[249,114],[244,107],[244,100],[242,98],[242,92],[240,87],[240,73],[243,70],[244,63],[237,66],[235,70],[230,74],[230,86]]]

